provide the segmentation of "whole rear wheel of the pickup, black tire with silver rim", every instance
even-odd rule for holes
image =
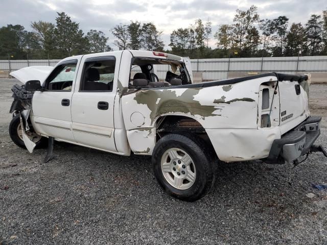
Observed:
[[[216,154],[197,136],[168,134],[155,145],[152,167],[155,178],[168,194],[193,202],[204,197],[214,186],[215,159]]]

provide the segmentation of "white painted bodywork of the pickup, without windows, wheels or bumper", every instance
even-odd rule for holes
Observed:
[[[185,64],[192,82],[189,59],[159,55],[164,62]],[[112,91],[81,93],[86,60],[106,56],[115,57],[116,61]],[[160,137],[157,132],[160,120],[166,116],[182,116],[204,129],[220,160],[233,162],[267,158],[274,140],[281,139],[310,116],[309,82],[302,78],[293,81],[288,75],[267,74],[211,83],[135,88],[130,86],[130,76],[133,59],[137,57],[157,59],[158,54],[115,51],[60,61],[57,66],[78,60],[72,88],[53,93],[35,92],[30,114],[35,131],[42,136],[115,154],[151,155]],[[12,76],[22,82],[37,79],[35,76],[27,79],[33,68],[24,69],[12,72]],[[42,70],[35,67],[37,69]],[[50,77],[51,70],[52,67],[44,68],[39,80],[43,82]],[[295,90],[299,94],[295,94]],[[60,106],[64,98],[69,99],[72,107]],[[55,110],[45,107],[42,104],[45,101]],[[98,101],[107,101],[109,109],[100,114],[96,104],[92,104]]]

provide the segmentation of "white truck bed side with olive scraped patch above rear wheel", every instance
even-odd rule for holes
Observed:
[[[156,142],[156,120],[162,115],[183,115],[203,126],[221,160],[262,158],[269,153],[273,139],[280,137],[278,127],[263,129],[264,134],[261,130],[258,132],[259,87],[273,80],[276,78],[263,77],[206,88],[142,89],[123,95],[123,116],[131,150],[151,155]],[[279,107],[272,113],[278,116]],[[254,146],[258,141],[252,141],[253,134],[257,135],[254,140],[262,138],[266,143]],[[251,147],[246,148],[246,155],[238,156],[235,151],[244,148],[243,144]]]

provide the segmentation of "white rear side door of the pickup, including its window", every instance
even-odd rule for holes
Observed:
[[[113,107],[119,62],[115,56],[85,55],[72,99],[72,129],[76,142],[117,152]]]

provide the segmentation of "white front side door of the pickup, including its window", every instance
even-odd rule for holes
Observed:
[[[44,81],[44,91],[35,91],[31,119],[38,133],[75,142],[71,104],[79,60],[77,57],[59,63]]]

